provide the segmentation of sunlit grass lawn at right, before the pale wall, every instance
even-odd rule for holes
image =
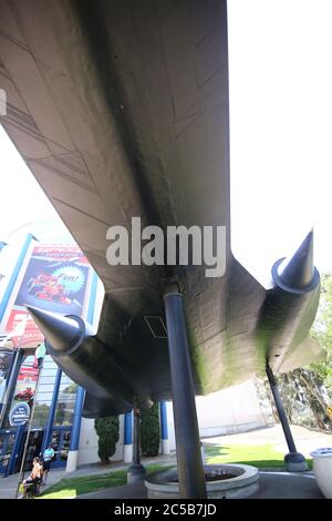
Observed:
[[[284,467],[283,453],[277,452],[272,443],[268,445],[205,445],[207,463],[247,463],[259,469]],[[312,469],[312,459],[307,460]]]

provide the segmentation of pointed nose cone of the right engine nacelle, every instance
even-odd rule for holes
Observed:
[[[313,265],[313,231],[311,231],[294,255],[278,260],[272,267],[272,277],[278,286],[299,293],[313,289],[319,274]]]

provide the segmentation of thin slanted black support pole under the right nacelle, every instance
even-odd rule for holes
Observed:
[[[291,471],[307,470],[307,462],[305,462],[304,457],[300,452],[297,451],[295,442],[294,442],[292,432],[290,430],[288,417],[287,417],[283,403],[281,400],[281,396],[278,389],[278,384],[269,364],[267,364],[267,376],[268,376],[270,388],[273,395],[274,403],[277,407],[278,416],[280,418],[284,438],[288,445],[288,449],[290,452],[289,454],[284,457],[284,461],[288,467],[288,470],[291,470]]]

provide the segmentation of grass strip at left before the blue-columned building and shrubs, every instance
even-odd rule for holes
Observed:
[[[169,466],[148,464],[146,472],[157,472],[162,469],[167,469]],[[127,471],[115,470],[105,474],[82,476],[80,478],[62,479],[58,483],[50,487],[37,499],[70,499],[76,498],[87,492],[105,489],[107,487],[120,487],[126,484]]]

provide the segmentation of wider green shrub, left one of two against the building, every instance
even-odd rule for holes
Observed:
[[[98,457],[103,464],[107,464],[118,441],[118,417],[97,418],[94,420],[94,428],[98,436]]]

